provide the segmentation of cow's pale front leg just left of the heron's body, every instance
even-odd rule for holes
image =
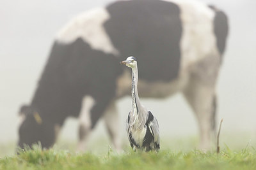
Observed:
[[[121,151],[121,140],[120,140],[120,124],[119,124],[119,117],[118,117],[118,111],[116,109],[116,103],[112,102],[109,104],[105,115],[104,115],[104,121],[109,133],[109,136],[111,138],[111,142],[113,143],[115,149],[120,152]]]

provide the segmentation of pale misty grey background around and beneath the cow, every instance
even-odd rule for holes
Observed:
[[[223,118],[223,133],[246,133],[244,143],[256,142],[256,1],[201,1],[225,11],[230,26],[217,85],[217,125]],[[1,0],[0,145],[17,141],[19,108],[29,104],[33,97],[56,33],[78,13],[110,2]],[[156,115],[163,138],[198,135],[196,119],[182,95],[142,99],[142,102]],[[118,102],[124,138],[130,110],[130,96]],[[61,138],[76,141],[77,129],[76,118],[68,118]],[[102,137],[107,135],[103,122],[99,121],[92,138]]]

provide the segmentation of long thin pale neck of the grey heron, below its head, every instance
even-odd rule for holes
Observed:
[[[140,99],[138,95],[138,67],[132,68],[132,109],[138,114],[140,109]]]

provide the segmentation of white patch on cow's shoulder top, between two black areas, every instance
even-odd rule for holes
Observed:
[[[103,25],[109,17],[105,8],[81,13],[58,32],[56,39],[60,43],[72,43],[83,38],[95,50],[118,55]]]

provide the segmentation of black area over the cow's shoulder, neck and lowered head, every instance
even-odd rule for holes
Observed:
[[[54,125],[62,125],[67,117],[78,117],[86,95],[96,101],[90,116],[93,128],[115,97],[116,78],[123,71],[118,63],[114,55],[92,50],[81,38],[70,44],[56,41],[31,102],[42,117],[44,128],[38,127],[33,118],[33,124],[25,121],[20,127],[20,145],[37,141],[43,147],[52,145]],[[33,132],[29,134],[27,128]]]

